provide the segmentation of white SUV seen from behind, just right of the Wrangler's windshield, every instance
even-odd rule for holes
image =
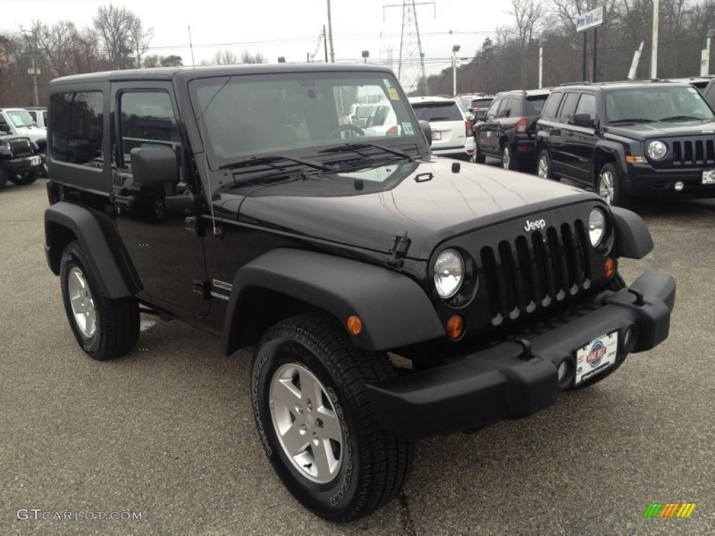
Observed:
[[[475,144],[472,124],[465,117],[455,99],[443,96],[411,96],[410,104],[417,118],[432,127],[433,154],[469,160],[474,156]]]

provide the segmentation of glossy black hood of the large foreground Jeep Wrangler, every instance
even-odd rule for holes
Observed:
[[[449,237],[586,199],[597,198],[501,168],[433,159],[253,184],[222,192],[214,207],[222,217],[385,254],[406,232],[408,257],[427,259]]]

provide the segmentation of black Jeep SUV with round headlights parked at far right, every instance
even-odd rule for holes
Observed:
[[[713,134],[713,111],[690,84],[561,86],[538,121],[537,172],[620,206],[631,196],[715,197]]]

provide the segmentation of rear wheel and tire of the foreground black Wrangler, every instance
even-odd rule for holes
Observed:
[[[104,361],[134,348],[139,339],[137,300],[104,296],[79,242],[64,248],[59,279],[72,333],[89,357]]]

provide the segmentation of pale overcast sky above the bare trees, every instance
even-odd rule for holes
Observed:
[[[0,0],[0,29],[29,28],[32,19],[47,24],[69,19],[77,26],[89,26],[97,8],[107,4],[106,0]],[[316,50],[315,59],[325,59],[318,38],[323,24],[327,28],[327,0],[123,0],[113,4],[131,9],[153,29],[147,54],[177,54],[184,65],[192,63],[188,26],[197,64],[210,60],[219,49],[237,54],[245,49],[260,52],[270,63],[278,56],[289,62],[305,61]],[[415,4],[428,74],[450,66],[453,45],[461,46],[458,56],[473,56],[497,26],[513,24],[510,0],[417,0]],[[403,1],[331,0],[330,5],[335,61],[362,61],[362,51],[368,50],[368,61],[385,62],[392,49],[397,71]]]

